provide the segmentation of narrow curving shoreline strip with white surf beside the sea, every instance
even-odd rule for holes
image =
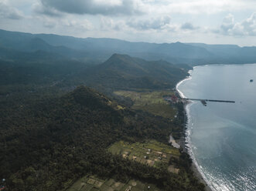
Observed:
[[[194,67],[193,67],[194,69]],[[189,76],[186,77],[186,79],[183,79],[182,81],[178,82],[176,85],[176,92],[178,93],[178,95],[181,98],[186,98],[186,96],[183,94],[183,92],[181,92],[178,87],[180,84],[182,84],[183,82],[185,82],[186,80],[191,79],[191,73],[193,72],[193,70],[189,70]],[[181,137],[181,139],[179,139],[179,145],[181,146],[181,148],[183,149],[184,152],[188,153],[189,156],[191,157],[193,163],[191,165],[191,169],[193,170],[193,174],[194,176],[196,176],[196,178],[200,181],[200,183],[203,183],[203,185],[205,186],[205,190],[206,191],[213,191],[213,189],[210,188],[210,186],[207,183],[206,177],[203,175],[203,172],[201,172],[201,170],[199,169],[198,164],[196,163],[196,159],[193,156],[193,152],[190,149],[190,145],[189,145],[189,132],[188,132],[188,121],[189,121],[189,106],[191,106],[193,104],[193,102],[191,101],[183,101],[183,112],[185,112],[185,116],[186,116],[186,124],[184,127],[184,134]]]

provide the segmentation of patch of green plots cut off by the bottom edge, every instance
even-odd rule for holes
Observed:
[[[149,186],[149,188],[148,188]],[[127,183],[114,179],[98,179],[95,176],[84,176],[67,189],[67,191],[159,191],[154,185],[130,179]]]

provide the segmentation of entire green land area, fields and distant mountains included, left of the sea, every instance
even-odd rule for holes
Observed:
[[[6,191],[203,190],[189,155],[167,142],[183,134],[183,103],[162,96],[191,69],[180,63],[256,60],[254,47],[0,34]],[[131,50],[151,61],[112,55]]]

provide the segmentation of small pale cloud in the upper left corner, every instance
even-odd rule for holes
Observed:
[[[17,8],[0,2],[0,18],[21,19],[22,13]]]

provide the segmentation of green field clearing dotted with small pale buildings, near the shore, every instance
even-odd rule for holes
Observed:
[[[158,167],[161,164],[168,166],[171,157],[179,157],[179,149],[168,146],[155,140],[144,143],[115,142],[108,151],[119,154],[124,158],[138,161],[149,166]]]

